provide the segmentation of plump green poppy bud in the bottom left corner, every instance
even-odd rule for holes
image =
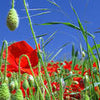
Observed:
[[[10,93],[6,83],[0,85],[0,100],[9,100]]]

